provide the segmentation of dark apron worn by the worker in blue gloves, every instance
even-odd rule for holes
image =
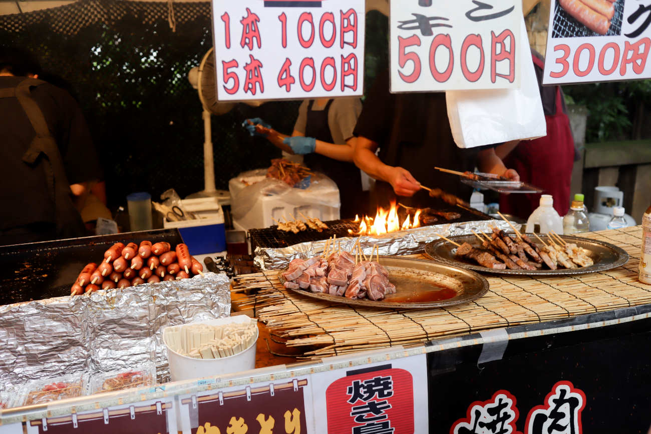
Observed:
[[[326,143],[334,143],[330,127],[328,126],[328,112],[333,100],[329,100],[323,110],[312,110],[314,100],[307,106],[307,125],[305,137],[314,137]],[[339,161],[321,154],[307,154],[303,161],[312,170],[326,174],[339,187],[339,200],[341,201],[340,215],[342,219],[352,219],[355,214],[361,214],[363,206],[362,180],[357,166],[346,161]]]

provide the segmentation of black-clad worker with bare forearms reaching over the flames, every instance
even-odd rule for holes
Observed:
[[[519,180],[518,172],[506,169],[493,146],[461,149],[452,138],[445,92],[389,93],[389,70],[378,75],[354,130],[357,136],[354,161],[359,169],[378,180],[372,193],[372,209],[385,207],[396,196],[419,208],[449,208],[431,198],[422,185],[469,200],[471,187],[434,169],[473,170]],[[378,155],[376,150],[380,149]]]

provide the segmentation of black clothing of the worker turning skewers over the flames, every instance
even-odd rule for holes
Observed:
[[[383,163],[409,170],[422,185],[470,199],[472,189],[461,183],[458,176],[434,169],[473,170],[480,149],[461,149],[454,143],[445,92],[391,94],[389,71],[385,70],[368,92],[355,135],[378,143],[378,156]],[[388,196],[393,191],[385,182],[378,182],[376,188],[382,192],[378,194]],[[400,198],[400,202],[449,208],[422,190],[413,198]]]

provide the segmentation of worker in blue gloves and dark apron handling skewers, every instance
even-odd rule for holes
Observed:
[[[305,100],[298,109],[291,136],[271,129],[260,118],[247,119],[243,126],[251,135],[258,124],[271,129],[267,138],[281,137],[285,146],[274,144],[279,148],[289,146],[294,154],[305,156],[303,161],[307,167],[331,178],[339,188],[341,218],[346,219],[363,211],[361,173],[353,164],[353,129],[361,110],[359,98]]]

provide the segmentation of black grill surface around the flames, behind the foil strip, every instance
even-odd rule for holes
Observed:
[[[458,207],[450,208],[441,211],[454,211],[461,214],[461,217],[454,220],[445,220],[439,217],[439,221],[435,224],[441,223],[462,223],[466,221],[480,221],[492,220],[490,215],[484,214],[480,211],[473,210],[472,208]],[[438,216],[437,216],[438,217]],[[328,229],[323,232],[317,232],[314,229],[308,228],[305,231],[293,234],[292,232],[284,232],[278,230],[278,226],[271,226],[264,229],[250,229],[249,237],[251,237],[251,249],[255,250],[256,247],[265,247],[268,249],[279,249],[281,247],[289,247],[291,245],[305,243],[307,241],[320,241],[328,239],[329,237],[337,234],[337,237],[348,237],[350,234],[348,230],[357,231],[359,223],[353,223],[352,220],[332,220],[325,222]]]

